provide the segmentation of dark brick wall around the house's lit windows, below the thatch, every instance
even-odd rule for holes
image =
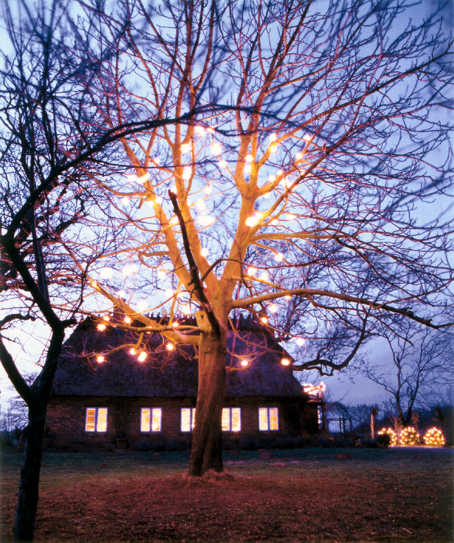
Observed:
[[[284,399],[247,398],[225,400],[225,407],[241,407],[241,432],[224,432],[224,441],[238,443],[239,439],[272,439],[295,432],[295,423],[289,413],[295,409],[295,402]],[[106,433],[85,432],[85,412],[87,407],[107,407],[108,427]],[[161,407],[161,432],[140,432],[140,409],[142,407]],[[58,449],[85,451],[103,449],[115,444],[119,432],[124,433],[129,445],[140,441],[150,443],[161,441],[167,445],[190,443],[191,434],[180,431],[180,409],[195,407],[195,399],[159,398],[116,398],[116,397],[51,397],[47,409],[47,426],[53,446]],[[261,432],[258,430],[258,408],[279,408],[279,430]],[[315,414],[316,416],[316,414]],[[304,430],[304,428],[299,428]]]

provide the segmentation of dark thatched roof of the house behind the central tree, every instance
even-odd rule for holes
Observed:
[[[291,359],[264,327],[250,319],[235,323],[238,330],[228,332],[226,364],[240,368],[227,372],[227,397],[237,396],[302,396],[300,383],[291,368],[281,364]],[[197,358],[194,348],[166,350],[166,340],[157,333],[147,334],[147,359],[139,362],[129,349],[115,350],[124,344],[135,344],[137,336],[108,326],[96,329],[86,319],[73,332],[62,350],[55,373],[52,395],[66,396],[140,396],[196,397]],[[103,353],[104,361],[97,362]],[[248,367],[241,360],[248,359]]]

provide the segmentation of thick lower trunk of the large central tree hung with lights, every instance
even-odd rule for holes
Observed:
[[[188,475],[222,471],[221,418],[225,397],[225,333],[202,333],[199,343],[199,385],[196,422]]]

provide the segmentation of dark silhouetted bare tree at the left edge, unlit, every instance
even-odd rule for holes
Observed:
[[[77,225],[96,198],[86,190],[93,172],[108,168],[119,137],[167,121],[102,123],[86,91],[97,65],[77,54],[67,3],[2,7],[9,44],[0,91],[0,361],[28,407],[14,524],[19,541],[33,538],[48,396],[90,262],[74,267],[63,238],[93,243]],[[106,247],[102,237],[96,244],[97,254]],[[31,336],[41,340],[41,371],[28,383],[14,352]]]

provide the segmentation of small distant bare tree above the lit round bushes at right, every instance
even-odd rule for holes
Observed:
[[[453,382],[452,333],[421,330],[409,323],[401,324],[399,336],[386,332],[389,357],[381,363],[365,360],[359,370],[390,394],[401,425],[417,427],[414,408],[431,405],[440,387]]]

